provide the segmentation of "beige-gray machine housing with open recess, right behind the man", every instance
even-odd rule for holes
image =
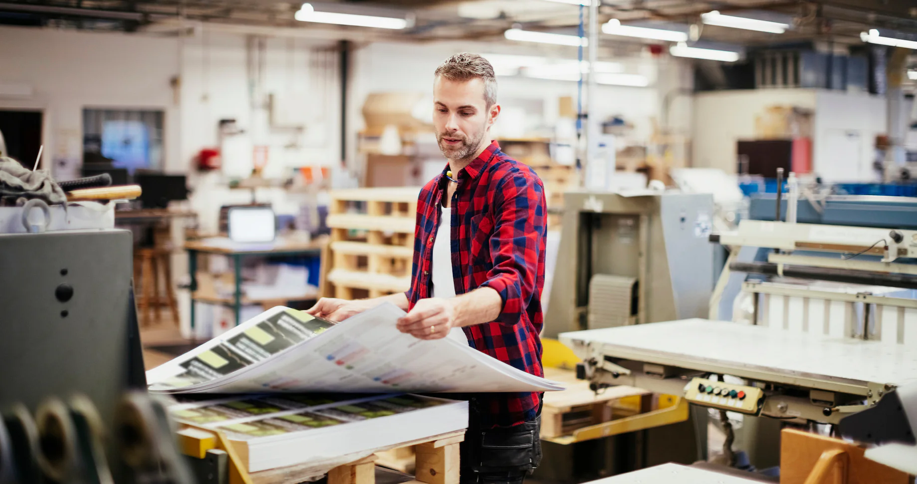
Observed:
[[[636,324],[707,317],[713,195],[566,192],[562,220],[544,336],[587,329],[597,274],[636,279]]]

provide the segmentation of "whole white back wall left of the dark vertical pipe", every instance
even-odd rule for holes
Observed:
[[[0,28],[0,82],[26,84],[28,97],[0,96],[0,109],[45,112],[46,160],[75,161],[83,153],[84,107],[160,109],[165,112],[163,169],[185,172],[201,148],[216,147],[217,122],[235,118],[271,162],[285,166],[339,161],[337,58],[328,41],[270,38],[260,93],[276,93],[289,124],[302,137],[271,129],[266,109],[249,93],[247,39],[199,28],[191,38]],[[12,46],[16,46],[13,48]],[[180,78],[180,88],[171,79]],[[61,171],[58,171],[61,172]]]

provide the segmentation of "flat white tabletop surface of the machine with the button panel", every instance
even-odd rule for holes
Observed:
[[[602,346],[602,354],[660,365],[728,373],[743,378],[800,384],[823,390],[837,385],[917,382],[917,350],[878,341],[800,334],[724,321],[688,319],[563,333],[578,347]]]

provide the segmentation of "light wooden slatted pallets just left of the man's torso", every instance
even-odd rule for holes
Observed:
[[[324,254],[326,297],[359,299],[411,286],[419,188],[360,188],[329,193]]]

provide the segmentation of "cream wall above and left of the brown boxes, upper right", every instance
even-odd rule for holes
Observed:
[[[757,89],[695,94],[693,166],[735,173],[735,142],[754,139],[755,117],[775,104],[815,109],[815,91]]]

